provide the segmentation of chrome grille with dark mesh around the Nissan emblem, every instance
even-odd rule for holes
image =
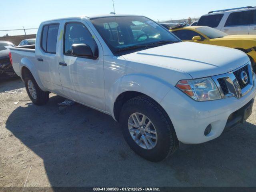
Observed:
[[[243,71],[248,76],[246,83],[242,81],[241,72]],[[253,73],[250,62],[232,72],[213,76],[212,79],[220,90],[222,98],[235,96],[239,99],[246,95],[253,87]]]

